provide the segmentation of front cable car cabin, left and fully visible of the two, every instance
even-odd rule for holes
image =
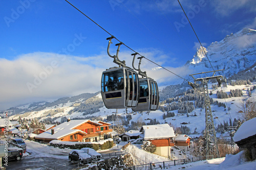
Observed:
[[[135,108],[139,100],[137,72],[127,67],[112,67],[102,72],[101,95],[108,109]]]

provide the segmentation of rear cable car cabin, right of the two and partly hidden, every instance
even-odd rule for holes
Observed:
[[[138,106],[133,111],[157,110],[159,105],[159,91],[157,82],[151,78],[140,79],[140,96]]]

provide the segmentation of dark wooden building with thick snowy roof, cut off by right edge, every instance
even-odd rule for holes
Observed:
[[[233,140],[240,150],[247,149],[252,160],[256,159],[256,117],[243,123],[234,134]]]

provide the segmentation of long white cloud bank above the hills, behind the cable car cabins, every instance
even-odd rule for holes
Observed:
[[[142,55],[160,65],[169,60],[168,56],[158,50],[143,51],[145,53]],[[120,52],[119,59],[125,60],[126,66],[132,67],[131,52]],[[136,59],[136,68],[138,62]],[[105,53],[77,57],[38,52],[20,55],[11,61],[0,59],[0,110],[18,104],[100,91],[102,71],[113,66],[117,65]],[[141,70],[146,71],[149,77],[159,83],[180,79],[164,69],[153,70],[154,67],[154,63],[142,59]],[[183,68],[167,68],[174,72],[182,72],[180,76],[186,74]]]

